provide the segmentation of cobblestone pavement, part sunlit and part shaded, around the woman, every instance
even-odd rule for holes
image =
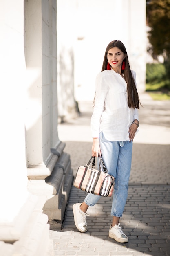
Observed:
[[[75,227],[72,206],[86,192],[72,187],[61,230],[51,230],[54,256],[170,256],[170,101],[153,101],[141,95],[140,126],[133,144],[128,199],[121,227],[129,238],[118,243],[108,237],[111,198],[88,208],[88,231]],[[91,103],[80,102],[80,116],[59,125],[75,175],[91,157]]]

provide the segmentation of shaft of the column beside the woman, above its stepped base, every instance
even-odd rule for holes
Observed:
[[[51,153],[50,10],[49,1],[26,1],[26,160],[29,177],[40,179],[51,174],[57,161],[57,156]],[[56,124],[55,144],[57,139]]]

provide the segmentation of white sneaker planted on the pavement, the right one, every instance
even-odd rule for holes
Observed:
[[[114,227],[110,225],[108,236],[115,239],[119,243],[126,243],[128,242],[128,237],[124,234],[119,225],[120,223],[118,225],[115,224]]]

